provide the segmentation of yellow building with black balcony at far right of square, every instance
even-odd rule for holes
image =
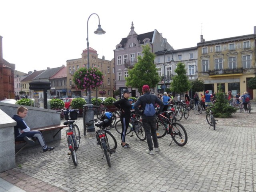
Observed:
[[[253,99],[256,90],[247,82],[256,74],[256,27],[254,34],[205,41],[201,35],[198,46],[198,78],[204,80],[204,91],[217,92],[221,84],[224,92],[233,95],[248,91]]]

